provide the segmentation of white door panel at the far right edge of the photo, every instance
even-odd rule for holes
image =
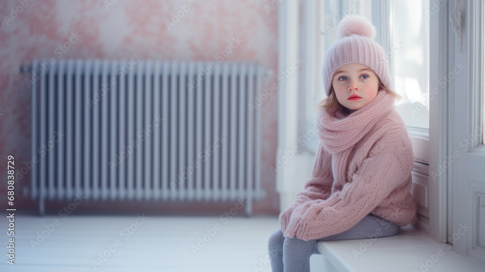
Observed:
[[[483,1],[450,3],[449,170],[452,199],[448,241],[485,264],[485,146],[483,145]],[[458,10],[459,8],[459,10]],[[457,16],[461,14],[460,16]],[[454,24],[453,24],[454,22]],[[461,43],[461,46],[460,46]],[[461,48],[460,48],[461,47]]]

